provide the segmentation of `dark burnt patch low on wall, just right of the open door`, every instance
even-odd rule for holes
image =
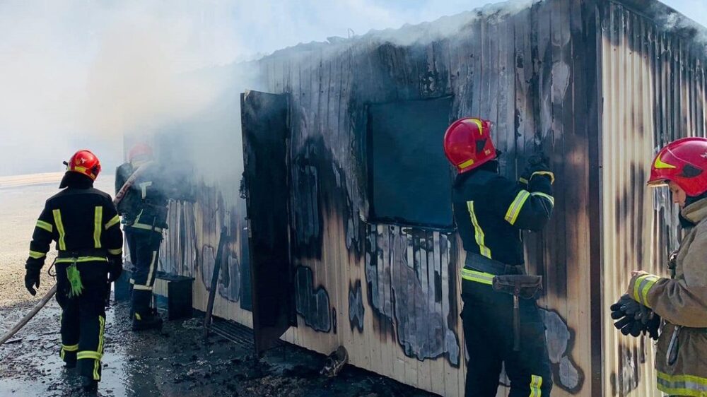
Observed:
[[[297,314],[302,316],[305,324],[315,331],[329,332],[332,330],[329,293],[321,285],[315,289],[313,283],[312,269],[306,266],[297,266],[295,270]]]

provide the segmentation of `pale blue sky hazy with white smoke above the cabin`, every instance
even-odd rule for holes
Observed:
[[[664,2],[707,25],[707,0]],[[178,73],[488,3],[0,0],[0,176],[61,170],[78,146],[105,149],[113,165],[122,131],[208,100],[208,87],[175,81]]]

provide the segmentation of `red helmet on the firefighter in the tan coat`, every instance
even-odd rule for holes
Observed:
[[[660,149],[650,167],[649,186],[675,182],[688,196],[707,191],[707,138],[682,138]]]

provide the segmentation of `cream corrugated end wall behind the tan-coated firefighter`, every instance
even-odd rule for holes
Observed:
[[[633,269],[667,276],[667,254],[679,242],[677,211],[667,188],[648,189],[645,181],[665,143],[704,135],[704,53],[696,57],[689,37],[618,2],[602,5],[600,23],[604,396],[660,396],[652,340],[621,336],[607,321],[608,305]]]

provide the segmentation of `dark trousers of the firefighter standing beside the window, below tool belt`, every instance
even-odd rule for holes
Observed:
[[[513,350],[512,295],[462,280],[462,301],[469,352],[464,396],[496,396],[502,364],[510,379],[509,397],[549,396],[552,377],[545,326],[535,300],[519,300],[520,351]]]

